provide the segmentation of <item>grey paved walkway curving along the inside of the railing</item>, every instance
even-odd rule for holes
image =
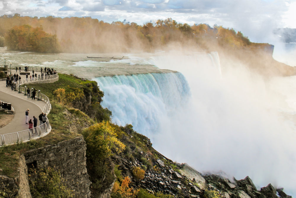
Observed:
[[[14,70],[14,72],[11,73],[14,74],[16,72]],[[17,73],[20,75],[19,70]],[[37,75],[38,74],[40,74],[40,72],[37,72]],[[25,75],[21,75],[22,79],[25,79],[25,77]],[[37,94],[36,96],[38,96]],[[15,110],[14,118],[9,124],[0,128],[0,134],[7,134],[29,129],[29,125],[25,124],[25,111],[27,109],[30,109],[29,120],[32,119],[33,121],[33,116],[35,116],[38,119],[39,125],[38,116],[42,112],[45,102],[37,99],[32,100],[32,98],[28,98],[28,96],[25,96],[24,94],[19,94],[18,91],[12,91],[10,87],[6,87],[5,80],[0,81],[0,100],[11,103]]]

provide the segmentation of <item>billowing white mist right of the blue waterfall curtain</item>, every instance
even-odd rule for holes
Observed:
[[[258,188],[271,183],[295,196],[295,121],[289,119],[295,110],[285,111],[286,96],[272,79],[231,60],[220,76],[219,63],[207,57],[171,52],[153,58],[161,69],[181,72],[192,94],[162,120],[161,132],[150,137],[153,146],[198,171],[222,170],[236,179],[248,175]]]

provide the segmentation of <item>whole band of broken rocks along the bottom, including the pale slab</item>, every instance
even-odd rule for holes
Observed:
[[[230,181],[220,175],[201,175],[188,164],[173,163],[173,168],[160,159],[156,159],[153,168],[147,169],[144,178],[139,180],[132,170],[143,167],[143,163],[138,159],[127,161],[120,156],[114,156],[113,159],[122,175],[131,178],[134,189],[143,188],[152,194],[161,191],[174,197],[198,198],[205,197],[206,191],[215,191],[221,198],[292,198],[283,189],[275,189],[271,184],[258,191],[248,176]]]

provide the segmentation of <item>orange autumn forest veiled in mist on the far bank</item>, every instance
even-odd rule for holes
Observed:
[[[268,44],[252,43],[242,32],[207,24],[178,23],[172,18],[138,25],[116,21],[105,23],[91,17],[0,17],[0,46],[35,52],[107,53],[151,52],[167,47],[186,46],[202,50],[263,49]]]

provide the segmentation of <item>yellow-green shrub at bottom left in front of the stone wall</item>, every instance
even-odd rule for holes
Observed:
[[[73,197],[74,193],[61,180],[59,172],[51,167],[46,169],[30,169],[28,174],[32,197],[66,198]]]

